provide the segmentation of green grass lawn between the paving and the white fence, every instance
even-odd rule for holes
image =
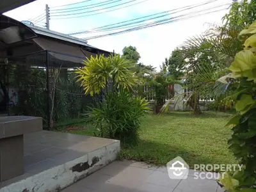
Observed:
[[[168,115],[148,115],[142,119],[136,147],[122,146],[120,159],[147,161],[164,165],[180,156],[189,166],[193,164],[236,163],[228,150],[231,131],[223,127],[230,115],[207,111],[202,116],[190,112],[172,112]],[[92,126],[70,128],[74,134],[93,136]]]

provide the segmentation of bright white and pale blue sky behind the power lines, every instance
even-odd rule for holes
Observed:
[[[76,31],[90,30],[92,28],[97,28],[100,26],[113,24],[116,22],[122,22],[124,20],[135,19],[137,17],[143,17],[146,15],[164,12],[167,10],[173,10],[175,8],[182,8],[191,4],[204,3],[205,0],[136,0],[129,4],[134,4],[143,1],[142,3],[136,4],[134,6],[129,6],[120,10],[113,12],[106,12],[106,10],[100,10],[98,12],[92,12],[102,7],[92,8],[90,10],[85,10],[87,14],[100,13],[98,15],[92,15],[87,17],[79,17],[74,19],[60,19],[63,17],[72,17],[72,16],[62,16],[58,17],[60,8],[73,8],[86,6],[89,4],[100,3],[106,0],[89,0],[88,2],[77,1],[77,0],[37,0],[33,3],[26,4],[12,10],[10,12],[4,13],[9,17],[12,17],[16,20],[31,20],[42,13],[45,13],[45,4],[49,5],[50,8],[50,29],[52,31],[58,31],[60,33],[73,33]],[[120,2],[109,4],[112,6],[115,4],[125,3],[131,0],[120,0]],[[72,6],[61,6],[70,3],[78,3]],[[211,4],[206,4],[205,6],[200,6],[194,8],[193,10],[187,10],[180,13],[172,13],[170,17],[176,17],[183,13],[195,13],[198,10],[205,10],[205,12],[211,12],[213,10],[220,10],[227,8],[228,5],[222,6],[221,8],[215,8],[213,10],[207,10],[221,4],[232,3],[232,0],[216,0]],[[125,4],[128,5],[128,4]],[[124,6],[125,6],[124,5]],[[56,7],[61,6],[61,7]],[[104,6],[106,7],[106,6]],[[122,6],[121,6],[122,7]],[[109,9],[111,10],[111,9]],[[83,12],[83,11],[82,11]],[[104,13],[106,12],[106,13]],[[205,13],[202,12],[202,13]],[[125,46],[135,46],[140,53],[141,59],[140,62],[145,65],[153,65],[159,70],[159,66],[164,61],[164,58],[168,58],[172,51],[186,42],[186,39],[200,35],[207,28],[209,24],[221,24],[221,18],[227,13],[228,10],[222,10],[220,12],[202,14],[198,17],[188,17],[184,20],[179,20],[177,22],[172,22],[163,26],[155,26],[154,28],[142,29],[140,31],[132,31],[129,33],[124,33],[121,35],[115,36],[106,36],[102,38],[95,38],[88,40],[88,44],[98,47],[99,49],[104,49],[106,51],[115,50],[116,53],[122,53],[122,49]],[[68,12],[70,13],[70,12]],[[61,14],[68,14],[61,13]],[[75,13],[75,12],[71,12]],[[82,15],[85,15],[82,14]],[[76,15],[77,16],[77,15]],[[40,18],[40,17],[39,17]],[[167,17],[165,17],[167,18]],[[152,22],[150,20],[148,22]],[[44,25],[44,20],[38,22],[37,24]],[[76,35],[79,38],[86,38],[88,36],[99,35],[100,33],[93,33],[89,35]]]

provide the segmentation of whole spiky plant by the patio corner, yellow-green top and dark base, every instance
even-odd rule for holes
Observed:
[[[137,140],[140,117],[149,107],[145,99],[134,97],[137,81],[132,69],[134,63],[120,55],[87,58],[84,67],[77,69],[77,77],[85,93],[104,93],[98,108],[91,108],[88,120],[95,125],[96,135],[116,138],[124,142]],[[112,90],[109,90],[112,84]],[[132,90],[132,92],[130,92]]]

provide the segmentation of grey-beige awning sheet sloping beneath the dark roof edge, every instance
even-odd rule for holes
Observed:
[[[34,38],[33,41],[42,47],[42,49],[48,50],[49,54],[58,60],[81,63],[86,57],[90,58],[91,55],[95,56],[95,53],[85,51],[76,45],[51,40],[51,38],[40,36]]]

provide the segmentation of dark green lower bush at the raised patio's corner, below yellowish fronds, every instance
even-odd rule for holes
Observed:
[[[120,90],[108,92],[100,108],[88,113],[88,120],[95,126],[97,136],[131,143],[137,140],[141,116],[148,113],[148,102]]]

